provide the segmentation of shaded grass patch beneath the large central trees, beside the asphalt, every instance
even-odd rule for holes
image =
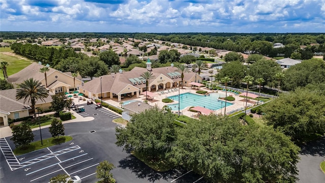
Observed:
[[[135,152],[135,151],[132,151],[131,154],[134,155],[139,160],[141,160],[146,165],[148,165],[150,168],[152,168],[158,172],[168,171],[175,167],[174,164],[168,162],[167,160],[163,160],[163,159],[150,160],[146,156],[142,155],[141,153]]]

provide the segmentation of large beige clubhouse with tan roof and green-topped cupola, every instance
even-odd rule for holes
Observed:
[[[146,91],[146,80],[140,75],[146,71],[150,71],[153,79],[148,82],[148,91],[158,92],[179,87],[181,84],[181,73],[177,68],[170,67],[151,68],[150,59],[147,60],[146,68],[135,67],[131,71],[122,72],[110,75],[104,75],[93,79],[82,85],[79,85],[79,92],[88,96],[91,99],[113,99],[118,102],[125,97],[137,98],[142,92]],[[191,86],[191,82],[200,82],[202,78],[195,72],[184,73],[184,86]]]

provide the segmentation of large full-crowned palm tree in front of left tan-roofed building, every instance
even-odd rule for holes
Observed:
[[[23,83],[19,85],[20,88],[17,89],[16,93],[16,100],[24,99],[24,104],[27,101],[30,101],[31,107],[34,111],[34,116],[36,117],[35,113],[35,104],[36,101],[41,100],[45,102],[45,98],[49,96],[47,89],[44,85],[33,78],[29,78],[24,80]]]

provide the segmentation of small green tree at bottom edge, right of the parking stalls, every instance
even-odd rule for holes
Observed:
[[[107,160],[104,160],[96,167],[96,178],[104,178],[102,181],[103,183],[115,183],[115,179],[113,178],[113,174],[111,173],[111,170],[113,170],[115,167],[112,163],[108,162]]]

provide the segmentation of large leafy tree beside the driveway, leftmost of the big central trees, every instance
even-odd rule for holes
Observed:
[[[116,144],[152,160],[163,158],[176,140],[174,117],[156,106],[133,114],[125,128],[116,128]]]

